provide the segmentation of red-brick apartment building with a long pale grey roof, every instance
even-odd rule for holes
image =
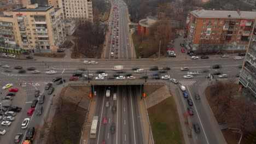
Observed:
[[[246,50],[255,17],[256,11],[190,11],[186,47],[201,52]]]

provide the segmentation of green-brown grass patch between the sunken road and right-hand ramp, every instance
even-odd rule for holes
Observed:
[[[173,97],[150,107],[148,115],[155,143],[184,143]]]

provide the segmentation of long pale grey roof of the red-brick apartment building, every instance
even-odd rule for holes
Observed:
[[[219,19],[256,19],[256,11],[229,11],[229,10],[194,10],[190,14],[198,18]]]

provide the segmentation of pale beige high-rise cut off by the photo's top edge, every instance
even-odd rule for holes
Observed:
[[[65,18],[93,22],[91,0],[62,0],[62,5]]]

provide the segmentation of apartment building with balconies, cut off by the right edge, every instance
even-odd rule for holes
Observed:
[[[245,94],[251,94],[256,98],[256,19],[254,21],[254,31],[252,39],[248,45],[245,61],[239,77],[239,82],[242,83]]]

